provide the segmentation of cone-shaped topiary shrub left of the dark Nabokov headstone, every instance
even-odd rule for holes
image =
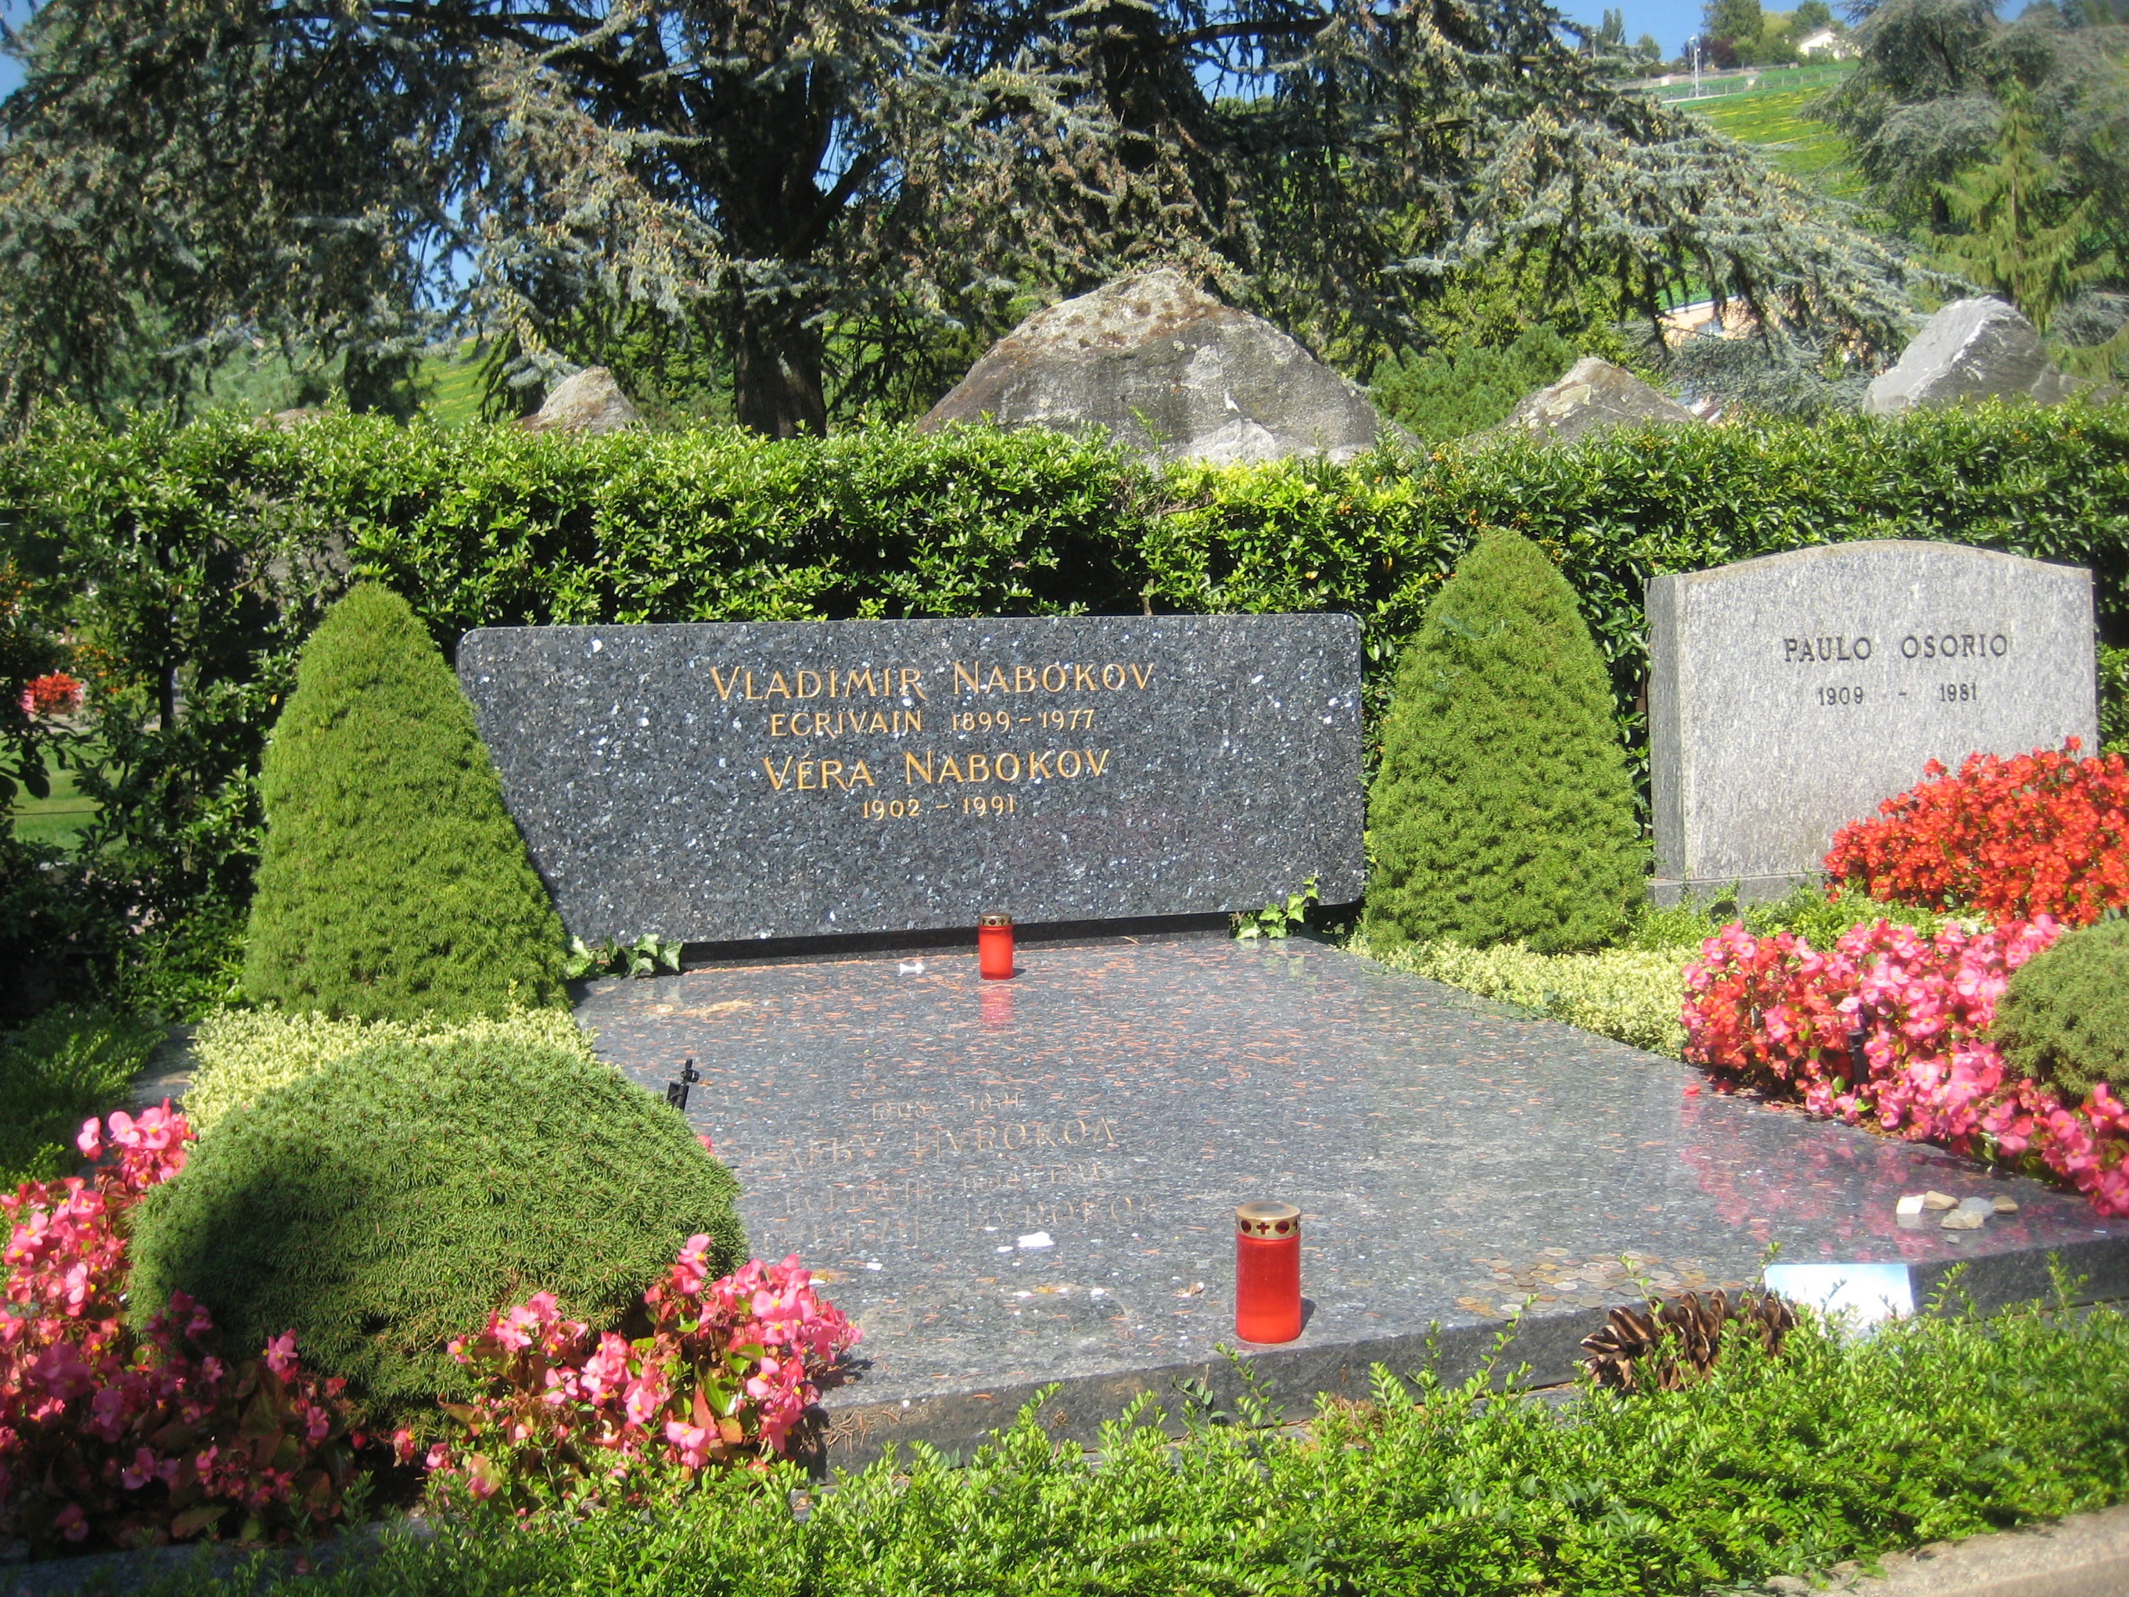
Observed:
[[[562,994],[562,922],[451,666],[405,598],[349,592],[266,745],[245,992],[362,1020]]]

